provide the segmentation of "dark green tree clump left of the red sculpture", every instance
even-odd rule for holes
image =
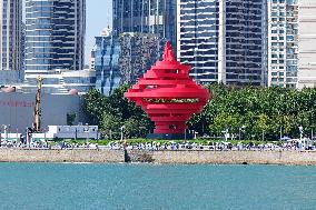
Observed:
[[[154,124],[135,103],[128,102],[124,93],[129,86],[115,89],[109,97],[91,89],[83,100],[83,111],[90,124],[100,127],[105,138],[119,139],[121,129],[127,138],[145,137]]]

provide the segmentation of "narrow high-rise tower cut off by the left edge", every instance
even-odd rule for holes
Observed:
[[[22,70],[22,0],[0,0],[0,70]]]

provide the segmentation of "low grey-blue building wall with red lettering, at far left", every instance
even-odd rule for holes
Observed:
[[[3,124],[9,126],[8,132],[24,132],[26,128],[33,123],[33,110],[36,93],[0,92],[0,130],[3,133]],[[81,111],[82,97],[73,94],[47,94],[41,96],[41,128],[48,130],[48,126],[67,126],[67,114],[76,113],[73,124],[85,122]],[[3,136],[2,136],[3,137]]]

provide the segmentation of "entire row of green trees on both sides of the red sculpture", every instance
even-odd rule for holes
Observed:
[[[128,86],[109,97],[91,90],[85,97],[83,110],[90,123],[99,124],[108,138],[118,138],[124,127],[129,138],[144,137],[154,129],[146,113],[124,98]],[[200,114],[188,122],[200,136],[276,140],[283,136],[298,138],[316,130],[316,89],[234,88],[223,84],[205,87],[213,92]],[[110,137],[111,136],[111,137]]]

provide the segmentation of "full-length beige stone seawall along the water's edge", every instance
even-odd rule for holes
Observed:
[[[316,166],[316,152],[1,149],[0,162]]]

